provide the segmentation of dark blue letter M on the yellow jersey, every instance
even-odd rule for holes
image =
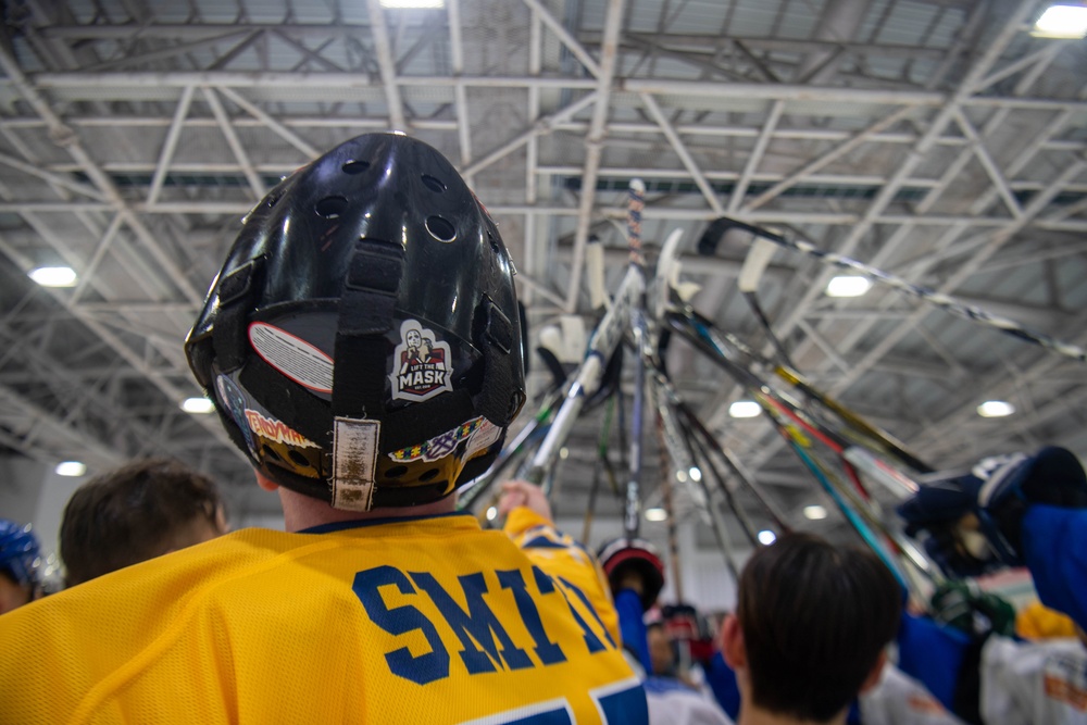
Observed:
[[[510,670],[524,670],[533,666],[533,661],[523,649],[518,649],[513,643],[498,617],[484,602],[483,596],[487,592],[487,584],[483,572],[457,577],[461,583],[461,589],[464,590],[464,599],[468,605],[466,612],[453,601],[449,592],[442,589],[430,574],[409,572],[409,576],[415,586],[430,597],[434,605],[438,608],[446,622],[460,638],[461,645],[464,646],[460,655],[468,673],[475,675],[482,672],[495,672],[502,663]],[[496,639],[498,642],[495,641]],[[476,642],[483,647],[483,652],[479,651]],[[498,648],[499,643],[501,649]]]

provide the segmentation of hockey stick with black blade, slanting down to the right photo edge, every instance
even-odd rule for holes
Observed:
[[[851,270],[858,274],[869,277],[870,279],[883,283],[889,287],[898,289],[899,291],[905,292],[907,295],[924,300],[925,302],[934,304],[941,310],[946,310],[947,312],[964,320],[988,325],[1000,330],[1001,333],[1004,333],[1005,335],[1011,335],[1026,342],[1051,350],[1058,354],[1072,358],[1073,360],[1078,360],[1079,362],[1087,362],[1087,350],[1084,350],[1084,348],[1077,345],[1072,345],[1071,342],[1059,340],[1055,337],[1046,335],[1045,333],[1033,330],[1014,320],[992,314],[991,312],[987,312],[986,310],[971,304],[965,304],[949,295],[938,292],[928,287],[915,285],[901,277],[884,272],[883,270],[877,270],[874,266],[870,266],[849,257],[844,257],[835,252],[828,252],[820,249],[805,239],[789,239],[784,235],[775,234],[770,229],[745,224],[744,222],[739,222],[727,216],[714,220],[710,224],[710,227],[705,230],[705,233],[703,233],[702,238],[699,240],[699,252],[705,255],[713,254],[716,249],[717,241],[720,241],[721,235],[730,228],[750,232],[760,239],[766,239],[775,245],[808,254],[809,257],[814,257],[824,264],[829,264],[842,270]],[[714,235],[716,235],[716,239],[714,239]]]

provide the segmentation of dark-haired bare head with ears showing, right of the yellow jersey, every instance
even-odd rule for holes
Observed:
[[[894,638],[902,591],[873,553],[786,534],[740,575],[724,655],[745,707],[827,722],[874,686]]]

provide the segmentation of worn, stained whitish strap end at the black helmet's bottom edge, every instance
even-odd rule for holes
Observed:
[[[333,436],[333,508],[370,511],[374,502],[379,421],[337,417]]]

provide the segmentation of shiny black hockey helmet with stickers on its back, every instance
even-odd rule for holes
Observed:
[[[185,343],[270,480],[338,509],[436,501],[525,400],[515,271],[437,150],[367,134],[245,218]]]

